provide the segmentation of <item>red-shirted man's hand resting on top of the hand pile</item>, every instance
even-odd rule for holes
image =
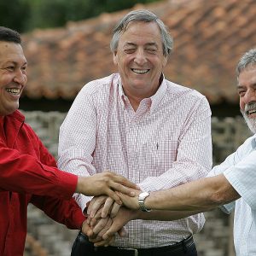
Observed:
[[[79,177],[76,192],[84,195],[108,195],[121,204],[119,195],[113,190],[134,196],[131,189],[137,189],[137,185],[127,178],[114,172],[102,172],[89,177]]]

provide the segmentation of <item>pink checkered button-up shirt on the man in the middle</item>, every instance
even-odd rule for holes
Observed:
[[[163,79],[134,112],[119,74],[86,84],[61,125],[58,166],[88,176],[111,170],[146,191],[204,177],[212,166],[205,96]],[[84,209],[90,197],[75,195]],[[114,246],[162,247],[202,229],[203,214],[177,221],[133,220]]]

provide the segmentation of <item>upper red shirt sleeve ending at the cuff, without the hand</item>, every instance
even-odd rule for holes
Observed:
[[[46,166],[36,156],[7,148],[1,139],[0,155],[0,189],[63,199],[72,197],[78,180],[73,174]],[[53,164],[52,160],[50,164]]]

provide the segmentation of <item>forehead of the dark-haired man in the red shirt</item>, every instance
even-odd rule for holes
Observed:
[[[23,49],[20,44],[12,42],[0,42],[0,62],[15,61],[18,63],[26,62]]]

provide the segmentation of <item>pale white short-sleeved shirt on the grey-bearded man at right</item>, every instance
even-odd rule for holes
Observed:
[[[241,195],[221,209],[231,212],[235,207],[234,244],[237,256],[256,255],[256,135],[249,137],[236,152],[215,166],[209,176],[224,173]]]

